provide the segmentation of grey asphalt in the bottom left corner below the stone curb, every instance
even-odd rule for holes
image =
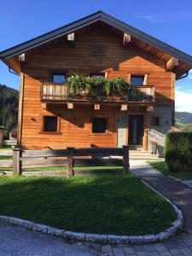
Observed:
[[[99,255],[82,243],[67,243],[18,226],[0,224],[0,256],[92,256]]]

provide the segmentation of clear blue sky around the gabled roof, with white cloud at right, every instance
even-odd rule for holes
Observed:
[[[0,51],[98,10],[192,55],[192,0],[0,0]],[[0,84],[19,83],[0,61]],[[192,71],[176,82],[176,110],[192,113]]]

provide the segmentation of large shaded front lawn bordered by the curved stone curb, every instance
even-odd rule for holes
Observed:
[[[119,235],[158,233],[172,207],[137,177],[0,177],[0,214],[61,229]]]

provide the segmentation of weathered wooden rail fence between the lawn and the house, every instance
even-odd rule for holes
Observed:
[[[74,175],[74,167],[123,166],[129,172],[129,148],[67,148],[55,150],[3,151],[0,155],[12,156],[13,160],[0,160],[0,167],[13,167],[13,173],[21,175],[23,168],[44,166],[67,167],[67,175]],[[115,158],[117,156],[118,158]],[[120,157],[120,158],[119,158]],[[63,168],[64,171],[64,168]],[[34,173],[35,175],[35,173]]]

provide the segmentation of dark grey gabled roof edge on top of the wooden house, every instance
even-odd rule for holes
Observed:
[[[159,39],[153,38],[149,36],[147,33],[141,32],[137,28],[127,25],[124,22],[117,20],[110,15],[107,15],[102,11],[98,11],[93,15],[86,16],[83,19],[74,21],[66,26],[61,26],[60,28],[45,33],[44,35],[38,38],[33,38],[29,41],[26,41],[25,43],[18,44],[12,48],[3,50],[2,52],[0,52],[0,58],[5,60],[15,55],[19,55],[23,52],[26,52],[29,49],[33,49],[41,44],[48,43],[49,41],[54,40],[55,38],[60,38],[61,36],[66,35],[70,32],[75,32],[76,30],[79,30],[79,28],[88,26],[99,20],[107,23],[109,26],[117,28],[121,32],[130,34],[132,37],[137,38],[146,44],[154,46],[157,49],[160,49],[168,55],[172,55],[173,57],[176,57],[177,59],[184,61],[189,65],[192,65],[191,55],[188,55],[183,51],[172,47],[169,44],[163,43]]]

